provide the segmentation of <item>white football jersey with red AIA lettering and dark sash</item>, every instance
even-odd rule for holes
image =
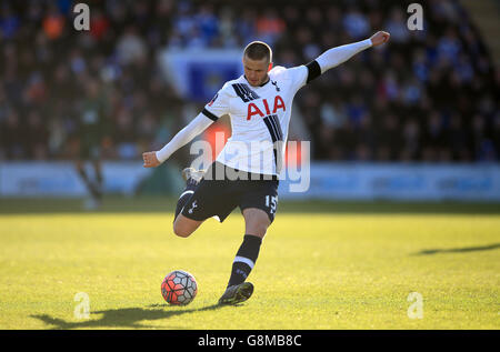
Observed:
[[[228,81],[204,107],[212,120],[231,119],[232,135],[217,161],[242,171],[280,173],[291,117],[293,97],[308,78],[308,68],[274,67],[270,80],[252,87],[244,76]]]

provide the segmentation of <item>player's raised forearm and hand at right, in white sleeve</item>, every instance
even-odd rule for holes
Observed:
[[[389,38],[390,34],[388,32],[379,31],[369,39],[327,50],[314,60],[318,62],[319,69],[321,70],[321,72],[317,72],[317,74],[324,73],[326,71],[346,62],[362,50],[383,44],[389,40]]]

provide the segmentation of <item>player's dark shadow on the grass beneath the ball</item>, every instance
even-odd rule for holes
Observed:
[[[168,304],[153,304],[150,309],[143,308],[122,308],[116,310],[91,312],[92,315],[103,314],[98,320],[86,320],[81,322],[68,322],[62,319],[52,318],[48,314],[30,315],[31,318],[41,320],[48,325],[52,325],[54,330],[69,330],[69,329],[98,329],[98,328],[127,328],[127,329],[147,329],[153,328],[150,325],[141,324],[143,320],[160,320],[169,319],[186,313],[213,311],[222,308],[223,305],[213,304],[200,309],[182,309],[180,306],[170,306]],[[177,329],[176,326],[170,326]]]

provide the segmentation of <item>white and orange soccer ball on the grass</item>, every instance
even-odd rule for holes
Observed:
[[[194,276],[183,270],[174,270],[164,276],[161,295],[169,304],[186,305],[194,300],[198,292]]]

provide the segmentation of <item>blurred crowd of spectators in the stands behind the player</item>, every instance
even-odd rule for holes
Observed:
[[[500,160],[500,76],[469,14],[452,0],[82,1],[0,3],[0,160],[71,159],[89,140],[104,159],[139,159],[194,117],[157,60],[164,48],[243,48],[263,40],[274,64],[387,30],[391,41],[330,70],[296,99],[313,158]],[[188,112],[186,111],[188,110]],[[191,114],[189,114],[191,113]],[[197,113],[197,112],[196,112]]]

